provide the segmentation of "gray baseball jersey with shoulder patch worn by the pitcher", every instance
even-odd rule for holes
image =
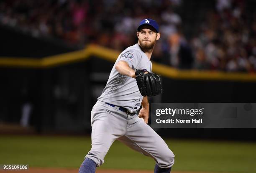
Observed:
[[[144,69],[151,72],[152,63],[138,44],[126,48],[115,61],[126,61],[132,69]],[[115,65],[98,100],[125,107],[129,112],[135,112],[141,106],[143,96],[141,95],[136,79],[120,74]]]

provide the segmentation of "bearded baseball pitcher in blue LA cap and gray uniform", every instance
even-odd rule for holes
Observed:
[[[150,61],[154,45],[160,38],[156,21],[142,20],[137,37],[138,43],[118,56],[105,89],[92,108],[92,148],[79,173],[95,173],[115,140],[153,158],[156,161],[155,173],[170,173],[174,164],[172,151],[147,125],[147,96],[162,92],[159,76],[151,72]]]

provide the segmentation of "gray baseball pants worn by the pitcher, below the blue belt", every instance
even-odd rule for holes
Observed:
[[[92,148],[85,158],[92,159],[97,167],[104,163],[104,157],[115,140],[150,156],[160,168],[174,164],[174,154],[164,140],[138,114],[127,114],[97,101],[91,111]]]

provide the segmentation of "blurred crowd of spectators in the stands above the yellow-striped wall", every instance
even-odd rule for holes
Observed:
[[[0,2],[0,23],[33,36],[122,51],[137,42],[138,23],[153,18],[161,32],[153,61],[181,69],[255,72],[256,9],[248,10],[246,0],[211,1],[215,6],[202,9],[205,20],[191,26],[189,38],[182,15],[200,9],[181,13],[187,10],[184,0],[5,0]]]

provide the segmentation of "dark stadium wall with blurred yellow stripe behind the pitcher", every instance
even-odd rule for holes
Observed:
[[[20,123],[24,106],[30,104],[28,121],[38,133],[90,133],[90,110],[119,52],[97,45],[77,50],[24,34],[5,39],[0,53],[0,121]],[[153,67],[161,75],[164,94],[150,102],[254,102],[256,98],[253,74],[181,71],[156,63]],[[157,132],[168,137],[256,140],[255,129]]]

